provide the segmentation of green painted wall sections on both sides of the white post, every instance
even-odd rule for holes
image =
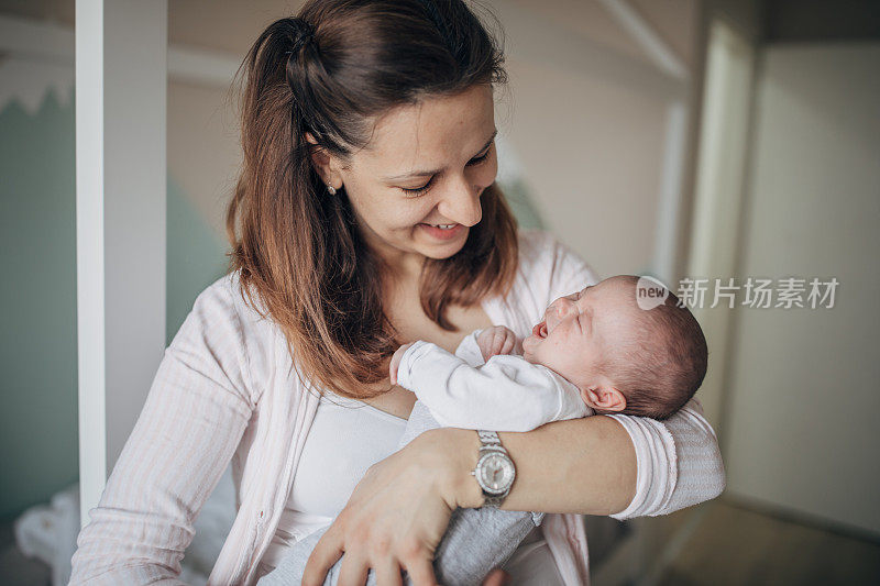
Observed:
[[[0,111],[0,522],[77,480],[75,101]],[[226,245],[167,184],[166,343]]]

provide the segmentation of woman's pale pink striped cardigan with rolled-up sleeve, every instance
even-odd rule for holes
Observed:
[[[526,335],[550,301],[596,277],[550,234],[524,230],[519,237],[512,292],[483,308]],[[295,371],[278,328],[243,302],[237,274],[199,295],[79,534],[70,583],[183,584],[194,520],[231,458],[239,510],[209,583],[253,584],[318,406]],[[615,419],[632,439],[638,479],[629,507],[613,517],[669,513],[724,489],[715,434],[695,401],[664,422]],[[541,528],[565,584],[586,584],[582,518],[548,515]]]

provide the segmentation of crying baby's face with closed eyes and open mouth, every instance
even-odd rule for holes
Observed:
[[[632,287],[618,277],[560,297],[522,341],[524,357],[578,386],[592,384],[607,349],[638,327],[634,311],[639,310]]]

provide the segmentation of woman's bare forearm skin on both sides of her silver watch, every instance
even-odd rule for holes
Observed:
[[[449,462],[450,498],[480,507],[483,496],[471,471],[480,440],[475,431],[441,429],[433,445]],[[502,509],[610,515],[636,493],[636,451],[626,430],[607,417],[554,421],[525,433],[502,432],[517,474]]]

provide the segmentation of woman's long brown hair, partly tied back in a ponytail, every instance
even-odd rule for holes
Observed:
[[[344,189],[324,195],[306,132],[349,161],[389,109],[506,84],[503,62],[460,0],[311,0],[248,52],[237,73],[245,74],[244,162],[227,212],[230,270],[316,387],[354,398],[386,391],[376,384],[399,342],[383,309],[382,261],[360,236]],[[515,276],[516,222],[495,184],[481,204],[463,248],[422,267],[421,306],[444,330],[457,331],[450,305],[505,295]]]

